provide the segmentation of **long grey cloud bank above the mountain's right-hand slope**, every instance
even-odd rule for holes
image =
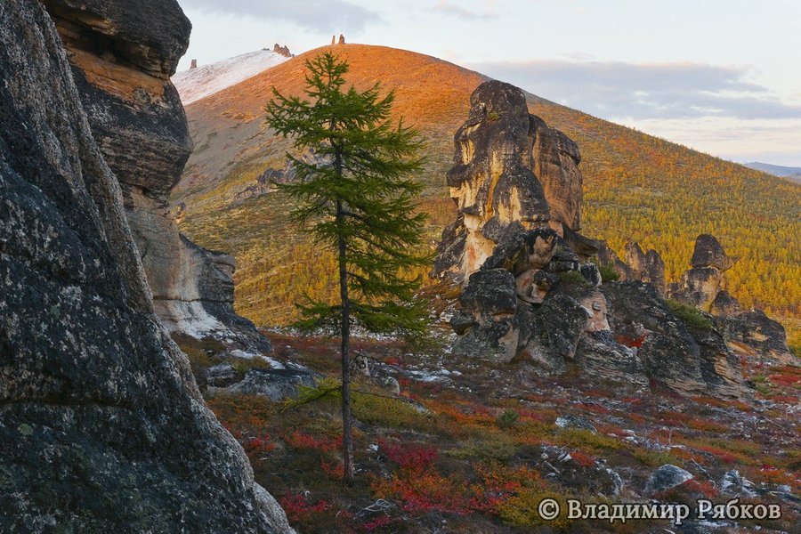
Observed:
[[[469,66],[610,119],[801,118],[742,67],[623,61],[494,61]]]

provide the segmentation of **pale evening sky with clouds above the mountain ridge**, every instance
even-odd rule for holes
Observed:
[[[452,61],[738,162],[801,166],[799,0],[178,0],[191,59],[331,36]]]

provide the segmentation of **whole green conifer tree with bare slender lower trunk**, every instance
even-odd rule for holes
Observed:
[[[298,303],[303,320],[297,326],[342,338],[344,478],[351,484],[351,328],[415,339],[427,326],[425,309],[414,299],[422,280],[409,276],[430,262],[414,253],[426,218],[416,213],[423,186],[412,178],[423,164],[422,141],[402,120],[391,121],[394,93],[380,96],[378,84],[364,92],[344,89],[347,62],[323,53],[306,61],[306,69],[306,98],[273,88],[267,123],[293,138],[298,151],[287,154],[295,181],[279,184],[295,200],[292,218],[337,256],[338,302]]]

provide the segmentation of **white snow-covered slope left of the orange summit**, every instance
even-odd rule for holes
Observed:
[[[243,53],[227,60],[183,70],[173,77],[173,84],[181,95],[184,106],[206,96],[219,93],[231,85],[287,61],[289,58],[270,50]]]

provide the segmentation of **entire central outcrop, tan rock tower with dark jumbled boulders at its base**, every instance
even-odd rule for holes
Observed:
[[[455,354],[515,360],[541,374],[579,368],[595,380],[742,395],[739,360],[720,333],[684,324],[663,300],[656,251],[630,243],[629,265],[578,234],[578,147],[531,116],[519,89],[476,89],[455,142],[448,185],[458,216],[434,266],[465,283],[451,319]],[[601,285],[595,264],[582,263],[595,254],[630,281]]]

